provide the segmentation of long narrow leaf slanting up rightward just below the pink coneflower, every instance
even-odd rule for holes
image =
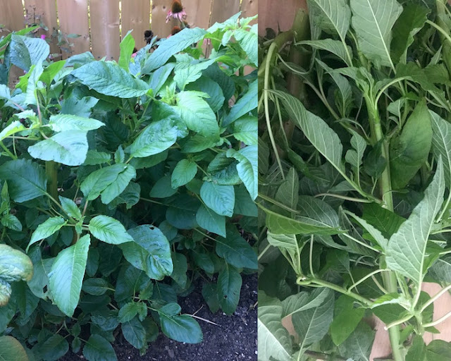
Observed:
[[[191,44],[199,42],[200,39],[204,38],[205,34],[206,31],[199,27],[194,27],[194,29],[185,28],[166,39],[164,44],[161,44],[161,46],[147,58],[142,68],[142,73],[149,74],[154,69],[163,66],[171,56],[190,47]]]

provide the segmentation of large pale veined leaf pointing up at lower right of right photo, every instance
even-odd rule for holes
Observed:
[[[426,245],[429,233],[440,211],[445,192],[443,162],[439,158],[437,170],[424,198],[414,208],[409,219],[390,237],[386,262],[388,268],[397,271],[419,286],[425,273]]]

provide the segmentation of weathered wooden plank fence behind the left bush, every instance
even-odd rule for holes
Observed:
[[[257,14],[258,0],[183,0],[190,27],[207,28],[242,11]],[[49,30],[39,32],[51,39],[51,52],[78,54],[92,51],[98,59],[118,59],[119,42],[133,30],[137,48],[144,47],[144,30],[167,37],[178,20],[166,24],[172,0],[0,0],[0,24],[5,30],[20,30],[33,23],[44,23]],[[58,46],[59,37],[66,44]],[[80,35],[77,38],[67,35]],[[53,36],[52,36],[53,35]],[[63,49],[63,51],[61,50]],[[66,50],[65,50],[66,49]],[[70,51],[68,51],[70,50]]]

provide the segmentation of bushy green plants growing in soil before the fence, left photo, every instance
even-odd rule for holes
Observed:
[[[50,62],[30,29],[0,40],[1,360],[116,360],[118,336],[144,354],[160,330],[199,343],[178,305],[195,285],[235,311],[240,274],[257,271],[252,20],[133,58],[128,34],[117,63]]]

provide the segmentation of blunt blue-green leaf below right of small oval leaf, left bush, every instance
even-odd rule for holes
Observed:
[[[235,190],[233,185],[216,185],[204,182],[200,189],[200,196],[206,207],[213,209],[221,216],[233,216],[235,207]]]

